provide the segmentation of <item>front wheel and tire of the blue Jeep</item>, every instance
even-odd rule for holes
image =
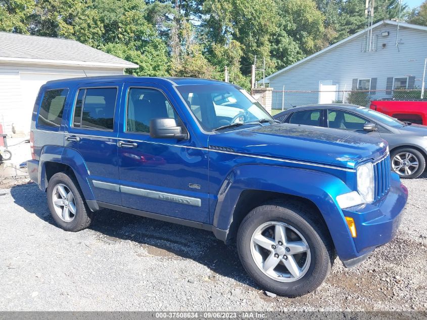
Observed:
[[[253,209],[239,227],[237,245],[240,260],[255,282],[287,297],[314,291],[335,260],[324,222],[294,201]]]

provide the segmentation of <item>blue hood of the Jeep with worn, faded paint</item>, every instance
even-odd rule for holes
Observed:
[[[384,155],[388,144],[362,133],[282,123],[213,134],[209,147],[354,168],[359,161]]]

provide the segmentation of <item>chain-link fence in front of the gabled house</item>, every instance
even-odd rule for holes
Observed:
[[[372,100],[420,99],[421,89],[413,90],[341,90],[341,91],[296,91],[273,90],[271,109],[282,110],[317,103],[349,103],[369,106]]]

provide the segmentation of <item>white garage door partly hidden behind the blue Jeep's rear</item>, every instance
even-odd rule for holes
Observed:
[[[29,132],[31,124],[31,114],[34,107],[35,99],[37,98],[40,87],[50,80],[58,80],[65,78],[75,78],[84,75],[81,74],[64,74],[64,73],[26,73],[20,72],[21,78],[21,95],[22,109],[17,112],[14,119],[16,130],[21,132]]]

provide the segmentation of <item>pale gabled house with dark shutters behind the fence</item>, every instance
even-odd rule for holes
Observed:
[[[264,81],[274,88],[275,109],[281,108],[283,87],[285,108],[342,101],[344,91],[356,89],[368,90],[373,98],[391,98],[393,89],[421,88],[425,58],[427,27],[385,20],[374,24],[371,31],[357,32]]]

